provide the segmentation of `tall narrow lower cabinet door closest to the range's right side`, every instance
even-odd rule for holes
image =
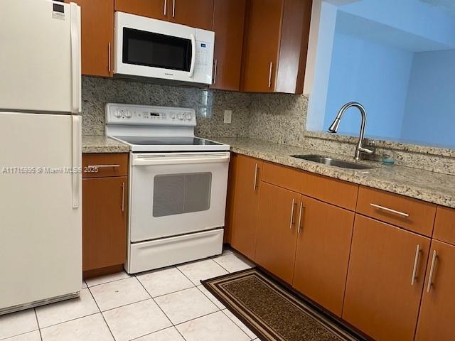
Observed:
[[[256,251],[261,171],[262,161],[237,156],[231,245],[252,260]]]

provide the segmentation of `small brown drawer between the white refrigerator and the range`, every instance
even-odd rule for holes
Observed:
[[[82,178],[128,175],[128,153],[82,154]]]

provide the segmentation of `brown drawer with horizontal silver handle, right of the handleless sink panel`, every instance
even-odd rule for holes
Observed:
[[[431,237],[436,205],[360,186],[357,212]]]

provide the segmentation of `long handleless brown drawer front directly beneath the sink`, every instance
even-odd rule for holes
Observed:
[[[354,183],[269,162],[264,163],[262,180],[347,210],[355,210],[358,185]]]

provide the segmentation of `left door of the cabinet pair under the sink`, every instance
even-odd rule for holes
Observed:
[[[294,274],[299,204],[298,193],[262,183],[255,261],[287,283]]]

